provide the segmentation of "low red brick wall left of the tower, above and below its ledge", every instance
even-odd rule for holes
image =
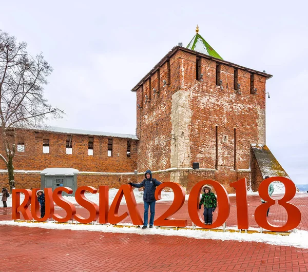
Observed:
[[[37,132],[37,131],[36,131]],[[43,139],[49,139],[49,153],[43,153]],[[79,171],[99,172],[79,174],[78,186],[91,185],[98,188],[108,185],[119,188],[120,184],[136,182],[137,177],[131,173],[137,169],[137,141],[131,140],[131,153],[127,157],[127,139],[112,138],[112,156],[107,156],[108,137],[94,136],[93,156],[88,155],[88,135],[72,135],[72,154],[66,154],[66,134],[26,130],[18,133],[17,142],[25,144],[24,152],[16,152],[15,170],[39,170],[50,167],[68,167]],[[0,139],[1,140],[1,139]],[[1,150],[3,152],[3,150]],[[1,168],[5,164],[1,161]],[[108,174],[108,173],[117,174]],[[14,173],[16,188],[41,187],[40,173]],[[0,183],[8,186],[7,172],[0,172]]]

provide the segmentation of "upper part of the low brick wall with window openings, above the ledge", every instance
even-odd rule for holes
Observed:
[[[35,133],[34,130],[17,132],[17,134],[16,141],[25,144],[25,151],[16,152],[14,157],[14,168],[16,170],[68,167],[79,171],[133,172],[137,168],[137,141],[135,140],[131,140],[131,154],[130,157],[127,157],[127,139],[112,138],[112,157],[108,157],[108,137],[94,136],[93,156],[89,156],[88,135],[73,134],[72,154],[66,154],[66,134]],[[49,139],[49,153],[43,153],[43,139]],[[2,169],[5,168],[3,162],[0,166]]]

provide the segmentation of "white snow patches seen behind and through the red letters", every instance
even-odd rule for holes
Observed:
[[[281,193],[285,192],[283,183],[281,183],[281,182],[273,182],[273,185],[274,185],[274,193],[273,193],[273,195],[281,194]],[[115,195],[117,195],[118,190],[119,189],[115,189],[115,188],[109,189],[109,205],[112,203]],[[138,188],[134,188],[133,189],[133,193],[134,193],[134,196],[136,198],[136,202],[137,203],[143,203],[143,191],[139,191]],[[94,193],[94,194],[93,193],[85,193],[85,197],[88,200],[96,203],[97,205],[99,205],[99,195],[100,195],[99,193]],[[253,192],[251,189],[249,189],[247,191],[247,195],[248,196],[258,196],[259,193],[258,192]],[[236,195],[235,195],[235,193],[229,193],[228,196],[229,197],[235,197]],[[172,200],[174,200],[174,192],[172,192],[172,191],[171,192],[162,191],[161,192],[161,197],[162,197],[162,199],[160,200],[160,202],[172,201]],[[188,197],[189,197],[189,195],[186,195],[185,196],[185,200],[188,200]],[[73,204],[78,204],[74,197],[64,196],[63,198],[68,200],[69,202],[71,202]],[[23,200],[24,200],[24,195],[21,193],[21,203],[22,203]],[[123,199],[121,201],[121,204],[126,204],[126,201],[125,201],[124,197],[123,197]],[[12,196],[10,196],[8,198],[7,206],[8,207],[12,207]]]

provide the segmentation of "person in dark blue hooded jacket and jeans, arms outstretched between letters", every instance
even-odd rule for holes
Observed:
[[[144,177],[145,179],[141,183],[131,183],[131,182],[128,183],[129,185],[136,187],[136,188],[144,187],[144,191],[143,191],[143,201],[144,201],[144,215],[143,215],[144,221],[143,222],[144,223],[143,223],[142,229],[147,228],[149,207],[150,207],[150,212],[151,212],[150,228],[153,227],[154,216],[155,216],[155,203],[156,203],[155,190],[156,190],[156,186],[159,186],[160,184],[162,184],[158,180],[152,178],[152,172],[150,170],[145,171]]]

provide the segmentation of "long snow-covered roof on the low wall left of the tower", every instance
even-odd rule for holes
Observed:
[[[101,132],[101,131],[83,130],[83,129],[74,129],[74,128],[47,126],[43,129],[35,129],[35,130],[49,131],[49,132],[56,132],[56,133],[65,133],[65,134],[106,136],[106,137],[128,138],[128,139],[132,139],[132,140],[138,140],[137,136],[132,135],[132,134],[120,134],[120,133],[113,133],[113,132]]]

